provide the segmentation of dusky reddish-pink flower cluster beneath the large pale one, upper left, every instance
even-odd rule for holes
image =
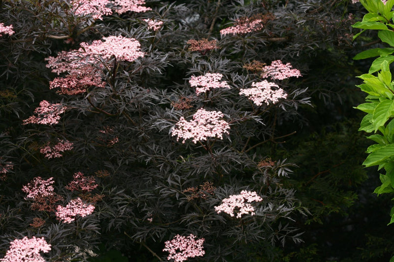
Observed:
[[[88,87],[104,87],[105,82],[92,66],[82,66],[66,77],[57,77],[49,82],[49,89],[59,88],[60,94],[75,95],[86,92]]]

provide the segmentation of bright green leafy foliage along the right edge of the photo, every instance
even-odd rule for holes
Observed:
[[[373,132],[367,138],[376,142],[367,148],[368,157],[363,165],[365,167],[378,166],[384,170],[380,174],[381,186],[374,193],[394,193],[394,82],[390,72],[390,64],[394,61],[394,0],[383,4],[381,0],[361,0],[363,6],[369,11],[361,22],[353,27],[360,29],[374,29],[382,42],[390,45],[389,48],[375,48],[361,52],[355,59],[377,57],[369,69],[368,74],[359,76],[364,83],[360,89],[368,94],[367,103],[361,104],[357,109],[367,115],[361,121],[360,131]],[[357,37],[357,36],[356,36]],[[376,75],[372,75],[377,72]],[[391,221],[394,223],[394,209],[391,210]],[[393,260],[393,259],[392,259]]]

